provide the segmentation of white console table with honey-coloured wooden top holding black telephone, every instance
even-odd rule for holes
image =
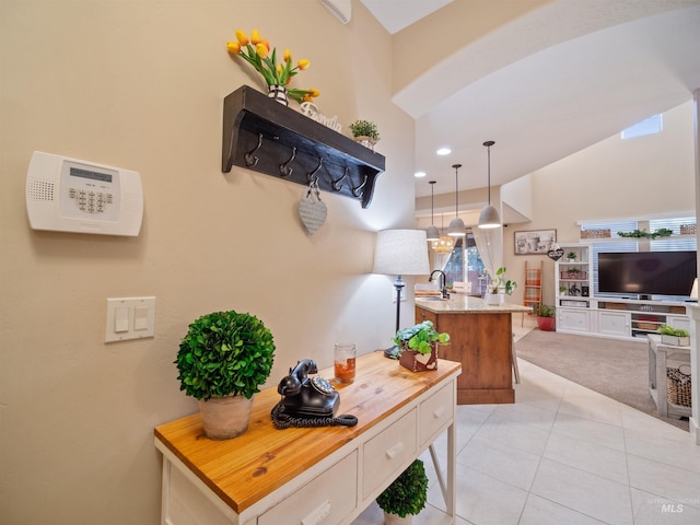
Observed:
[[[291,363],[293,364],[293,363]],[[277,388],[256,395],[248,430],[212,441],[199,413],[155,429],[163,453],[161,523],[184,525],[350,524],[447,430],[447,476],[439,481],[444,522],[455,515],[455,411],[459,363],[413,373],[382,351],[358,359],[357,378],[337,385],[338,413],[352,428],[276,430]],[[325,377],[332,370],[320,371]],[[441,472],[439,465],[435,470]]]

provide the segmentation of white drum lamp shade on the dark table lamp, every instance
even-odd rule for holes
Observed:
[[[382,230],[376,234],[374,273],[427,276],[428,238],[424,230]]]

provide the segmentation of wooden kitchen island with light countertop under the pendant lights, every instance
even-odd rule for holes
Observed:
[[[462,363],[457,405],[515,401],[512,314],[530,311],[516,304],[489,305],[463,294],[448,300],[416,298],[416,323],[432,320],[438,331],[450,334],[440,358]]]

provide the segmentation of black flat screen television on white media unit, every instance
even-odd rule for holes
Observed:
[[[598,254],[598,292],[689,296],[697,276],[696,252]]]

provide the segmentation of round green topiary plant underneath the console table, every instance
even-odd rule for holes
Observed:
[[[384,511],[386,525],[410,524],[413,515],[425,508],[428,476],[423,462],[416,459],[384,492],[376,503]]]

